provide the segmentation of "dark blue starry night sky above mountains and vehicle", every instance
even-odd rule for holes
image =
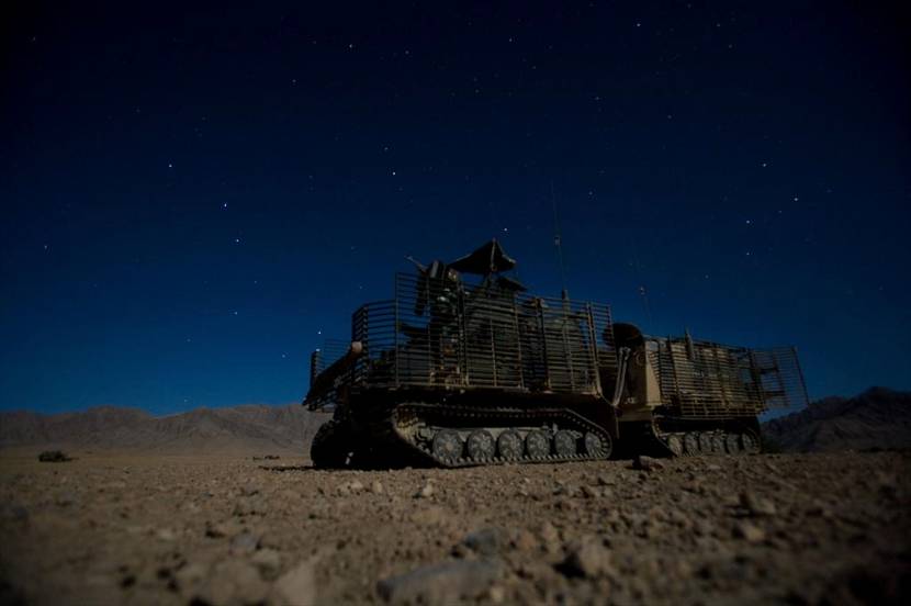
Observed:
[[[559,295],[551,191],[573,299],[911,388],[888,3],[18,4],[1,408],[299,402],[405,255],[495,236]]]

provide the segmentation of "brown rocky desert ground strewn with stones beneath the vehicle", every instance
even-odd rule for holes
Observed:
[[[909,592],[907,452],[386,472],[76,454],[0,458],[0,602],[851,604]]]

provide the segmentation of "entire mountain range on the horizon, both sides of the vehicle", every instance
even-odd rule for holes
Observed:
[[[329,415],[303,406],[195,408],[156,417],[138,408],[99,406],[45,415],[0,413],[0,449],[137,449],[168,454],[306,454]],[[776,449],[795,452],[911,448],[911,393],[870,388],[825,397],[763,424]]]

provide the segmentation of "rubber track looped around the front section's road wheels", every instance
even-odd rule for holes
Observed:
[[[410,416],[410,418],[408,418]],[[402,429],[410,423],[417,423],[420,417],[442,417],[446,420],[452,419],[451,426],[449,424],[429,424],[434,427],[456,428],[459,427],[459,420],[471,419],[472,422],[482,422],[490,419],[490,427],[522,427],[522,426],[538,426],[544,423],[562,420],[561,429],[575,429],[585,434],[592,431],[596,434],[604,444],[614,444],[612,438],[599,425],[585,418],[584,416],[569,411],[566,408],[540,408],[540,409],[521,409],[521,408],[479,408],[476,406],[448,406],[445,404],[420,404],[408,403],[396,406],[390,417],[391,429],[398,440],[407,446],[413,451],[419,452],[425,459],[446,468],[463,468],[477,467],[491,464],[525,464],[525,463],[562,463],[571,461],[599,461],[608,457],[588,457],[585,454],[574,454],[572,457],[558,457],[550,454],[541,458],[529,458],[524,456],[520,459],[501,459],[494,457],[487,461],[474,461],[468,458],[460,458],[454,461],[448,459],[439,459],[434,452],[426,447],[412,441],[408,436],[404,435]],[[508,424],[504,423],[509,420]]]

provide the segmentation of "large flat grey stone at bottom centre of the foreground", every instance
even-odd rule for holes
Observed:
[[[393,604],[451,604],[476,599],[499,579],[497,560],[460,560],[421,566],[380,581],[376,591]]]

